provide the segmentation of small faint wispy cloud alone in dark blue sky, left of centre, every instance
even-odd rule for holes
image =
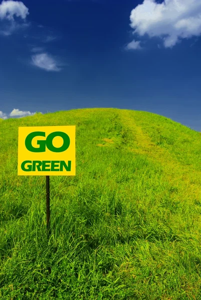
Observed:
[[[61,65],[58,61],[56,61],[51,55],[48,53],[40,53],[32,55],[32,64],[43,68],[47,71],[60,71],[59,65]]]

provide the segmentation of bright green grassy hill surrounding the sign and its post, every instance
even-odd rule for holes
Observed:
[[[76,175],[18,176],[19,126],[76,125]],[[201,135],[145,111],[0,119],[0,299],[201,299]]]

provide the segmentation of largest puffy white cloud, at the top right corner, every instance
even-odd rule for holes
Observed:
[[[201,35],[201,1],[144,0],[132,9],[130,21],[133,33],[161,37],[165,47],[172,47],[181,38]]]

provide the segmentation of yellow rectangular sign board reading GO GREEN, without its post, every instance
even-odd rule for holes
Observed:
[[[19,127],[18,175],[75,175],[75,125]]]

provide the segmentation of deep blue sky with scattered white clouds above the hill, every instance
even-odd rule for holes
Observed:
[[[115,107],[201,131],[200,0],[0,0],[0,117]]]

